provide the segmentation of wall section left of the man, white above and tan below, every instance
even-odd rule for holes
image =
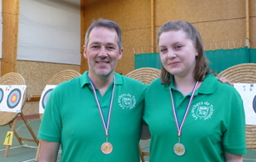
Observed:
[[[16,71],[26,79],[27,95],[41,95],[57,72],[80,71],[79,25],[78,5],[57,0],[20,1]],[[37,114],[38,110],[38,101],[30,101],[23,113]]]

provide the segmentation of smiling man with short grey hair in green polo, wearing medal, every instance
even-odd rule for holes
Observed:
[[[96,20],[85,35],[89,71],[51,92],[40,125],[39,162],[138,162],[146,85],[114,72],[121,31]]]

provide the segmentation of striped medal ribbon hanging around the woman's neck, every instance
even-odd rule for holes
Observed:
[[[182,129],[183,129],[183,124],[184,124],[185,119],[187,118],[187,115],[188,115],[188,113],[189,113],[189,107],[190,107],[191,102],[192,102],[192,100],[193,100],[193,98],[194,98],[195,90],[196,90],[198,84],[199,84],[199,82],[197,81],[197,82],[195,83],[195,85],[194,85],[194,88],[193,88],[193,90],[192,90],[192,94],[191,94],[190,99],[189,99],[189,104],[188,104],[188,106],[186,107],[186,111],[185,111],[185,114],[184,114],[184,116],[183,116],[182,123],[181,123],[180,125],[178,124],[178,121],[177,121],[177,113],[176,113],[176,109],[175,109],[175,105],[174,105],[174,100],[173,100],[173,96],[172,96],[172,89],[171,89],[171,84],[170,84],[169,90],[170,90],[171,100],[172,100],[172,112],[173,112],[174,119],[175,119],[175,123],[176,123],[176,126],[177,126],[177,136],[178,136],[178,137],[181,136],[181,131],[182,131]]]

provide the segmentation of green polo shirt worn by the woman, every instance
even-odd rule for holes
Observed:
[[[183,119],[189,95],[171,84],[177,119]],[[192,91],[192,90],[191,90]],[[148,87],[143,119],[151,132],[150,162],[212,162],[224,161],[224,152],[246,153],[245,114],[241,96],[229,84],[221,84],[212,74],[207,75],[195,97],[183,124],[181,143],[183,156],[177,156],[173,146],[178,142],[177,126],[172,113],[169,85],[160,79]]]

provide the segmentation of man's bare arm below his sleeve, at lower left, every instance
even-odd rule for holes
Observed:
[[[60,142],[40,140],[38,162],[55,162],[57,160]]]

